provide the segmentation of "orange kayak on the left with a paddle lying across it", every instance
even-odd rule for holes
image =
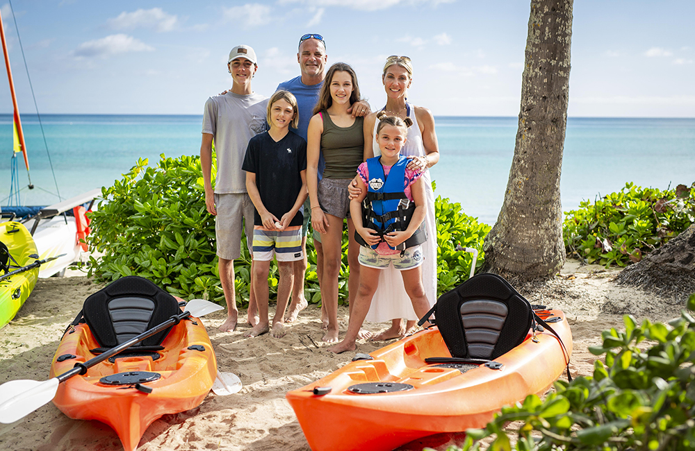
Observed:
[[[85,312],[86,306],[85,302]],[[65,332],[51,377],[97,355],[92,350],[100,344],[88,323]],[[126,451],[135,450],[154,420],[200,405],[217,375],[215,353],[199,318],[174,325],[161,346],[142,349],[146,350],[116,355],[66,380],[58,386],[54,404],[70,418],[106,423]]]

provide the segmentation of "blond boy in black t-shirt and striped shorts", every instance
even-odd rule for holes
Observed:
[[[285,307],[293,284],[293,262],[302,253],[302,204],[306,199],[306,141],[289,130],[297,127],[297,99],[278,91],[268,101],[270,130],[252,137],[241,169],[246,189],[256,207],[254,214],[254,266],[252,283],[259,323],[245,337],[270,330],[268,322],[268,271],[273,255],[280,277],[272,336],[283,337]]]

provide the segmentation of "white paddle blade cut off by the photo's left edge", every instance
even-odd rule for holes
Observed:
[[[46,405],[58,391],[58,378],[10,380],[0,385],[0,423],[14,423]]]

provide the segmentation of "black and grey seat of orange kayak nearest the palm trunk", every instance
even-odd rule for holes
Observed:
[[[436,303],[436,324],[452,357],[496,359],[520,345],[533,311],[507,280],[492,273],[473,276]]]

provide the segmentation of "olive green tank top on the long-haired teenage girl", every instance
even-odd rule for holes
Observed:
[[[363,161],[364,132],[363,117],[356,117],[349,127],[338,127],[331,120],[330,114],[323,110],[323,133],[321,134],[321,152],[326,160],[325,178],[354,178],[357,167]]]

